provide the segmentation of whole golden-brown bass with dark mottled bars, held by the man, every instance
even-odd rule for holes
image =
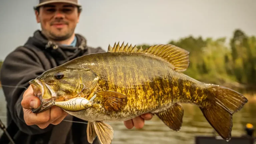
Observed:
[[[79,103],[68,108],[55,105],[88,121],[90,143],[98,136],[102,144],[110,144],[114,130],[108,122],[126,121],[145,113],[156,115],[167,127],[179,131],[184,115],[182,103],[187,103],[198,106],[216,132],[229,141],[233,114],[243,108],[247,98],[230,88],[185,75],[189,63],[189,51],[172,44],[143,49],[114,43],[107,52],[75,58],[29,81],[44,105],[32,111],[40,113],[54,102],[84,98],[84,102],[90,101],[86,108],[79,107]]]

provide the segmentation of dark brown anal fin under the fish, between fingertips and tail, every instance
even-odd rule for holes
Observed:
[[[181,128],[183,114],[183,107],[178,103],[175,103],[165,111],[156,113],[165,125],[175,131],[178,131]]]

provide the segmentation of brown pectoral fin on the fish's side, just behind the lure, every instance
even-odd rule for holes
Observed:
[[[97,97],[101,97],[101,104],[107,111],[119,111],[127,103],[126,95],[114,91],[97,92]]]

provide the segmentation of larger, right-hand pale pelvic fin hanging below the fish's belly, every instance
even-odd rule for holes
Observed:
[[[101,144],[111,144],[114,138],[113,128],[101,121],[95,121],[93,122],[93,125]]]

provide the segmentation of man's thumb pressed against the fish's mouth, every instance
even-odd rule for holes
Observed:
[[[36,97],[33,93],[29,93],[24,95],[21,106],[25,109],[38,108],[41,104],[41,101],[38,97]]]

